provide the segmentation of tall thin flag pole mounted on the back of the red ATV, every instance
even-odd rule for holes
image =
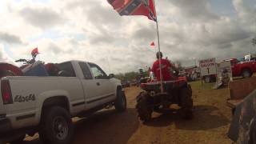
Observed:
[[[154,2],[154,0],[153,0]],[[161,52],[161,49],[160,49],[160,38],[159,38],[159,30],[158,30],[158,14],[157,14],[157,10],[155,8],[155,2],[153,3],[154,4],[154,13],[155,13],[155,18],[156,18],[156,25],[157,25],[157,32],[158,32],[158,58],[159,58],[159,69],[160,69],[160,86],[161,86],[161,92],[163,93],[163,84],[162,84],[162,65],[161,65],[161,56],[160,56],[160,52]]]

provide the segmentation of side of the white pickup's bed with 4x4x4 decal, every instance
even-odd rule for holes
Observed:
[[[81,81],[77,77],[12,76],[2,79],[8,79],[10,82],[13,103],[3,105],[0,100],[0,107],[2,110],[5,106],[6,117],[15,123],[14,128],[37,125],[38,118],[40,118],[38,111],[41,111],[38,108],[42,107],[42,102],[50,96],[67,96],[71,106],[74,103],[85,101]],[[2,94],[0,98],[2,99]],[[75,113],[82,109],[81,106],[71,107],[70,110]],[[30,118],[16,122],[19,117],[22,118],[22,115],[30,116]]]

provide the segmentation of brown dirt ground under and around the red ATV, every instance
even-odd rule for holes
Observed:
[[[231,110],[226,106],[227,88],[211,90],[210,84],[190,83],[193,89],[194,119],[182,120],[178,114],[154,113],[151,122],[138,120],[135,98],[138,87],[126,88],[128,108],[124,113],[102,110],[90,118],[75,119],[74,144],[125,143],[231,143],[226,133]],[[26,144],[41,144],[38,135],[26,138]]]

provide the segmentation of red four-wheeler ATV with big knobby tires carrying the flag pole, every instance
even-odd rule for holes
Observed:
[[[179,113],[182,118],[190,119],[193,116],[192,90],[186,78],[163,82],[164,92],[161,93],[160,82],[147,82],[141,84],[142,91],[137,96],[136,109],[138,117],[147,122],[153,111],[170,109],[171,104],[181,107]]]

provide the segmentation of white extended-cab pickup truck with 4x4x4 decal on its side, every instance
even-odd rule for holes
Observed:
[[[121,82],[96,64],[69,61],[58,64],[58,76],[7,76],[0,87],[0,143],[8,136],[19,142],[36,132],[45,143],[72,142],[71,118],[114,106],[126,110]],[[8,138],[7,138],[8,139]]]

